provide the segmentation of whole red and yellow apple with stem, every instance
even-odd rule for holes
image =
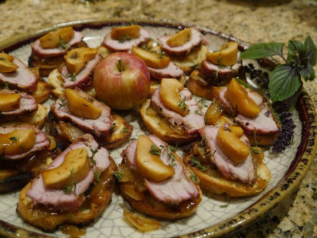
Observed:
[[[119,71],[119,61],[123,70]],[[149,95],[150,72],[138,57],[116,52],[102,59],[94,72],[94,88],[100,100],[112,109],[127,110],[140,105]]]

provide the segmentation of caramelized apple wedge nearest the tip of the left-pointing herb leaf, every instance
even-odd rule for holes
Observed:
[[[207,53],[207,59],[214,64],[234,65],[238,58],[238,43],[228,42],[219,51]]]

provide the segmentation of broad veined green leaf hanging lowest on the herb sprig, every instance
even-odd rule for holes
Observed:
[[[273,102],[291,97],[300,87],[299,73],[291,64],[277,66],[270,75],[268,89]]]

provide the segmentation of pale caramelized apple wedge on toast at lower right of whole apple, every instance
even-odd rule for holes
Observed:
[[[184,85],[177,79],[163,78],[159,87],[159,96],[166,107],[185,116],[188,113],[188,105],[179,95],[183,89]]]

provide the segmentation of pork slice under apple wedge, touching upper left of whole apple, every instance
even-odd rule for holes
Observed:
[[[89,87],[92,83],[91,74],[93,73],[100,60],[101,56],[100,54],[97,54],[95,58],[89,60],[89,62],[75,75],[75,79],[70,77],[67,67],[64,66],[61,71],[61,76],[64,80],[64,87],[71,89],[74,89],[76,87],[80,89],[86,89],[87,87]]]

